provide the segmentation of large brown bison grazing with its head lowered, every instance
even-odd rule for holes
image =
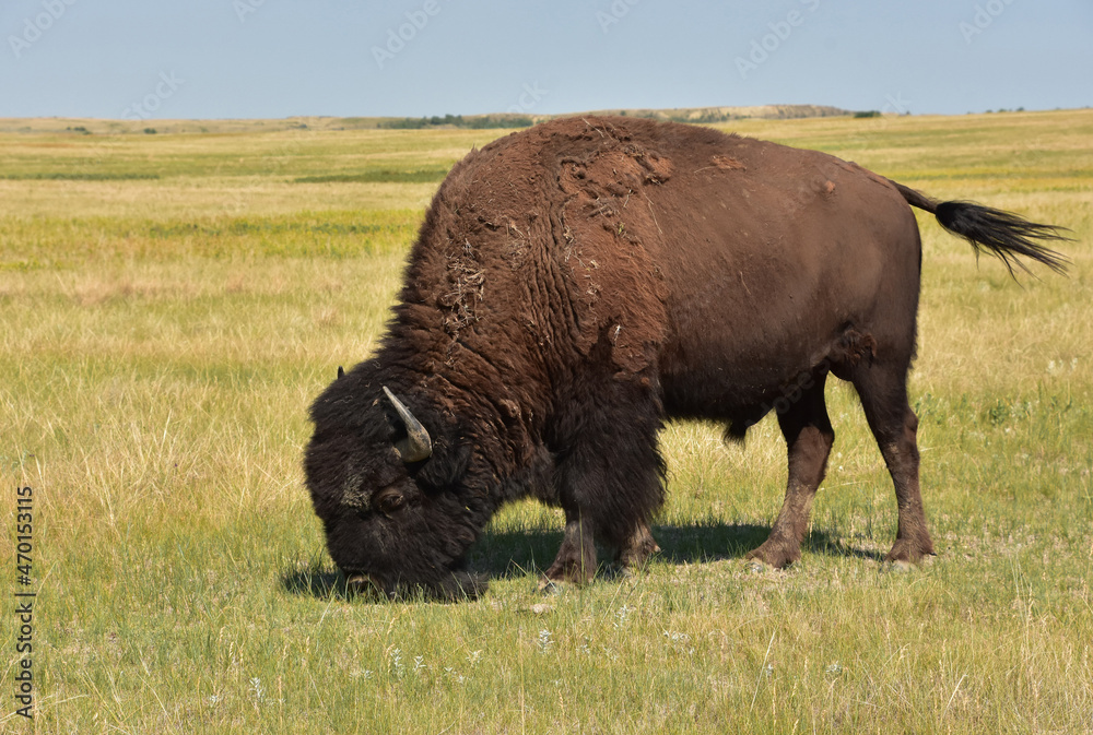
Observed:
[[[657,550],[657,446],[672,418],[742,438],[772,411],[789,479],[748,556],[800,557],[854,384],[895,485],[888,558],[933,554],[918,484],[921,244],[912,206],[1013,266],[1063,271],[1050,225],[937,202],[854,163],[650,120],[554,120],[472,151],[436,192],[376,354],[315,401],[304,469],[354,586],[474,596],[468,549],[505,502],[565,512],[545,580],[586,582],[596,544]]]

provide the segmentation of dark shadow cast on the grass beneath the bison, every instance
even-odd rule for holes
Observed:
[[[708,561],[743,558],[757,547],[771,533],[771,526],[742,524],[655,525],[653,535],[660,545],[656,561],[673,565],[692,565]],[[468,555],[468,566],[487,579],[517,579],[541,574],[557,554],[562,544],[561,530],[530,529],[525,531],[486,531]],[[855,548],[824,531],[812,531],[801,544],[803,552],[827,554],[882,561],[884,555],[874,550]],[[600,549],[601,562],[610,561]],[[612,578],[611,568],[601,569],[600,577]],[[308,569],[281,576],[286,592],[297,595],[338,600],[380,601],[383,595],[356,592],[345,584],[345,578],[329,567],[313,562]]]

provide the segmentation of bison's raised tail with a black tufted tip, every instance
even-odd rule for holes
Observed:
[[[937,216],[941,226],[972,244],[976,254],[986,250],[999,258],[1010,275],[1018,265],[1026,273],[1029,268],[1019,257],[1047,265],[1056,273],[1066,273],[1069,260],[1043,245],[1044,240],[1069,240],[1062,227],[1029,222],[1010,212],[1002,212],[972,202],[939,202],[902,183],[896,183],[903,198],[912,206]]]

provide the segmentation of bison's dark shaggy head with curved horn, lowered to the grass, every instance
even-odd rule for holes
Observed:
[[[485,583],[463,557],[489,509],[466,483],[470,446],[427,401],[411,411],[366,372],[339,371],[312,406],[304,470],[330,556],[351,585],[388,596],[473,597]]]

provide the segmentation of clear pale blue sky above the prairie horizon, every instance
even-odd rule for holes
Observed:
[[[1093,0],[0,0],[0,117],[1093,106]]]

